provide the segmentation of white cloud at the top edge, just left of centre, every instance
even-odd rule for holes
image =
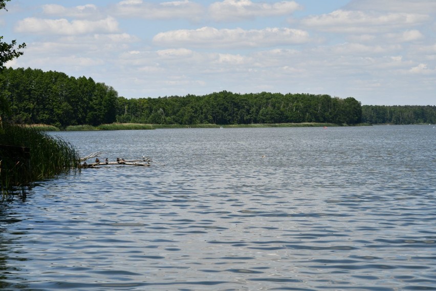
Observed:
[[[199,19],[204,15],[202,5],[190,1],[144,3],[138,0],[119,2],[113,9],[114,15],[138,17],[143,19]]]

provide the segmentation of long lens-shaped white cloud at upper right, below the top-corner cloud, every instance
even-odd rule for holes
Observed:
[[[419,25],[429,19],[425,14],[335,10],[329,14],[309,16],[301,23],[321,31],[368,33]]]

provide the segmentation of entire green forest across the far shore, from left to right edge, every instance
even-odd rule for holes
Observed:
[[[207,95],[132,98],[92,78],[39,69],[4,69],[0,90],[9,120],[66,128],[80,124],[336,124],[436,123],[436,106],[361,106],[353,97],[228,91]]]

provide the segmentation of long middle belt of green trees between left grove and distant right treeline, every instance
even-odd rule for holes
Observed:
[[[222,91],[204,96],[126,99],[119,97],[118,122],[152,124],[252,124],[361,122],[360,102],[329,95]]]

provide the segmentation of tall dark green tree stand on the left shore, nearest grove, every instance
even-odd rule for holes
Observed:
[[[0,91],[10,102],[10,121],[44,123],[58,128],[115,121],[118,93],[92,78],[69,77],[38,69],[3,70]]]

